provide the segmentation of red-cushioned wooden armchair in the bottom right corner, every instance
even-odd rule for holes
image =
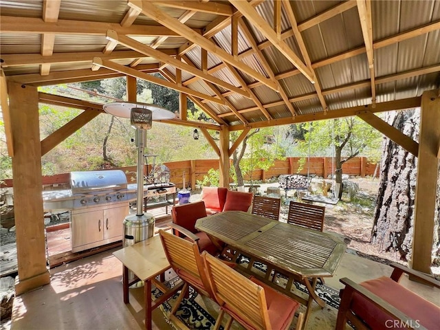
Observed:
[[[382,276],[360,284],[341,278],[341,303],[336,329],[345,329],[347,320],[355,329],[439,329],[440,307],[428,302],[402,285],[403,273],[428,285],[440,283],[421,272],[393,263],[391,277]]]

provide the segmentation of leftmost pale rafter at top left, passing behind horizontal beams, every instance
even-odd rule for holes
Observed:
[[[43,21],[56,23],[60,13],[61,0],[43,0]],[[45,33],[41,35],[41,55],[51,56],[54,52],[55,34]],[[50,64],[40,65],[41,76],[46,76],[50,72]]]

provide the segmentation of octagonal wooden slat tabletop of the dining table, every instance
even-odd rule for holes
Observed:
[[[347,246],[317,230],[246,212],[221,212],[195,227],[228,245],[299,276],[333,276]]]

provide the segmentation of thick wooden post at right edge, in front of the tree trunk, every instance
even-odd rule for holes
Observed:
[[[430,274],[440,141],[439,91],[421,96],[412,269]]]

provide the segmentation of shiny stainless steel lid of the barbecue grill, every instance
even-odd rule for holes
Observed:
[[[126,189],[127,181],[122,170],[85,170],[70,173],[72,194]]]

